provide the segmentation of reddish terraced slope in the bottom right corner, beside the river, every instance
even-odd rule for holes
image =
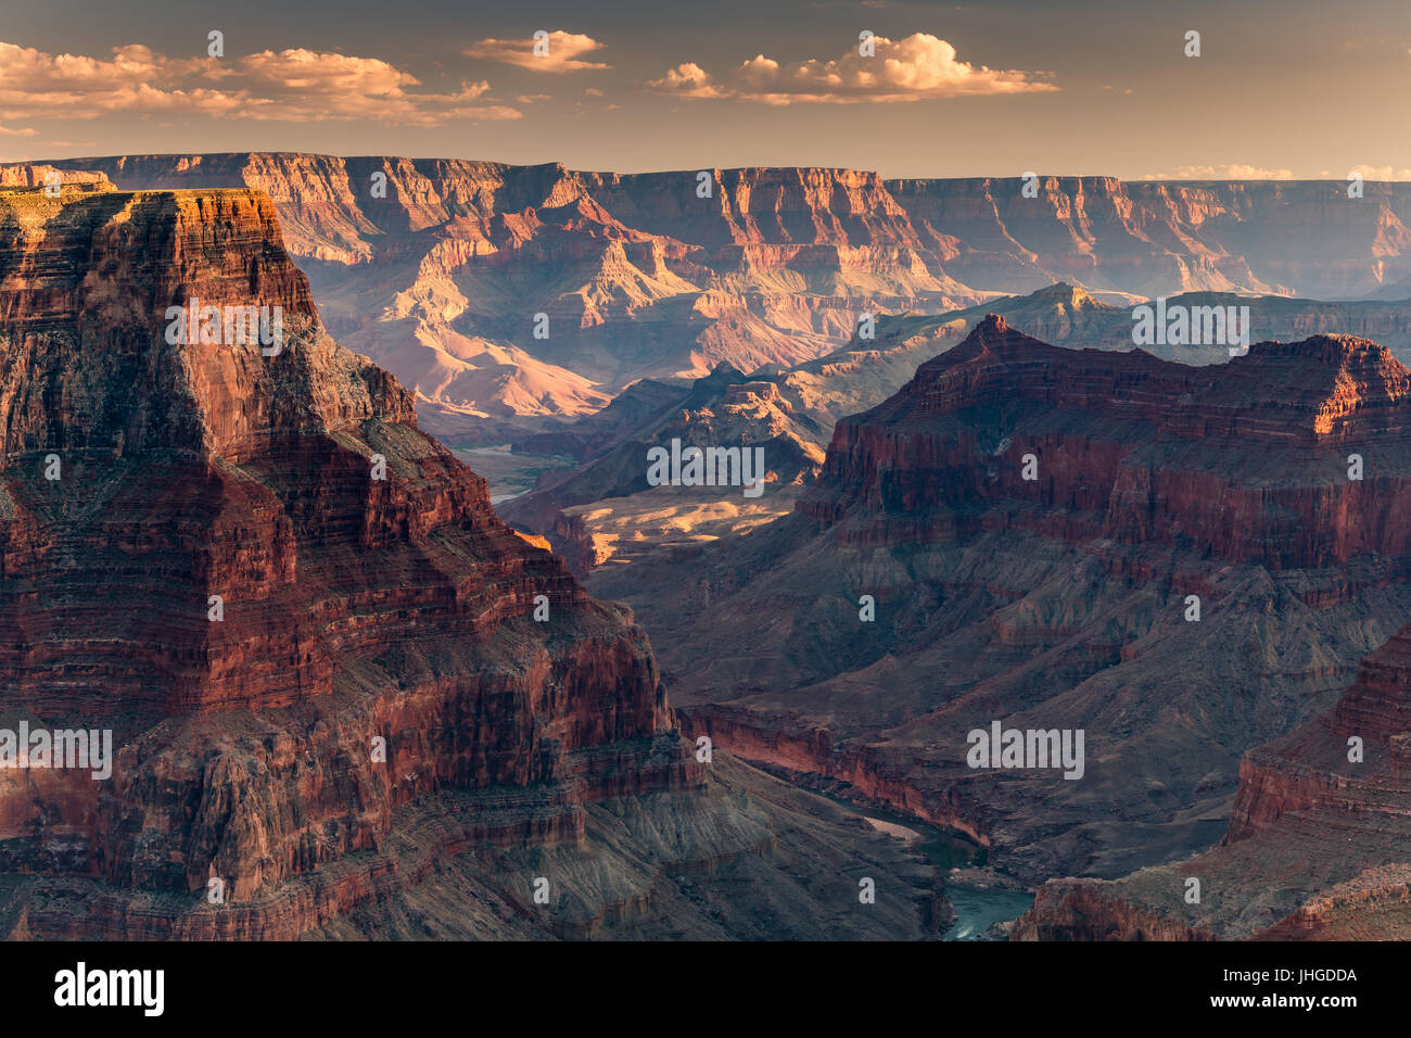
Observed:
[[[1218,849],[1118,881],[1051,881],[1019,936],[1403,939],[1408,775],[1411,626],[1367,657],[1332,710],[1246,754]]]

